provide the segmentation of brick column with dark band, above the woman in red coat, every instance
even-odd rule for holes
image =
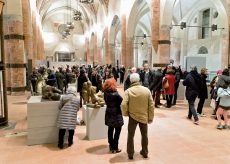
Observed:
[[[169,25],[162,25],[160,29],[160,39],[158,41],[158,55],[159,62],[166,64],[170,60],[170,27]]]

